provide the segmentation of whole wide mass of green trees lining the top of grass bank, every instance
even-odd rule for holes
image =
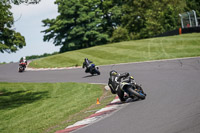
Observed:
[[[52,39],[56,46],[62,46],[61,52],[159,35],[180,27],[179,13],[194,8],[199,14],[200,9],[198,0],[57,0],[55,3],[60,15],[43,20],[48,27],[43,31],[44,41]],[[121,28],[129,35],[120,35]]]

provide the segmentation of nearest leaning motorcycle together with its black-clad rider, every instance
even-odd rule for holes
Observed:
[[[138,85],[134,78],[129,76],[129,73],[118,74],[114,71],[114,75],[110,75],[108,86],[111,92],[117,94],[122,102],[125,102],[128,98],[141,100],[146,98],[146,93],[144,93],[141,85]]]

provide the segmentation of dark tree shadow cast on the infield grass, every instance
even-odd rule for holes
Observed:
[[[47,97],[48,92],[31,92],[31,91],[3,91],[0,94],[0,110],[20,107],[24,104],[33,103],[37,100]]]

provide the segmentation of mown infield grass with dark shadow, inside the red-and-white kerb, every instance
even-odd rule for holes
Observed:
[[[104,98],[101,101],[104,104],[97,106],[96,99],[103,94],[102,85],[86,83],[0,82],[0,132],[41,133],[64,129],[88,116],[85,111],[105,106],[113,99],[114,95]]]

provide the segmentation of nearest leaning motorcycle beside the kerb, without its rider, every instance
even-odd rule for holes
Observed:
[[[124,80],[119,82],[117,86],[116,93],[121,101],[125,101],[124,93],[126,93],[126,97],[132,99],[145,99],[146,94],[144,93],[141,85],[138,85],[132,76],[128,77],[128,80]]]

